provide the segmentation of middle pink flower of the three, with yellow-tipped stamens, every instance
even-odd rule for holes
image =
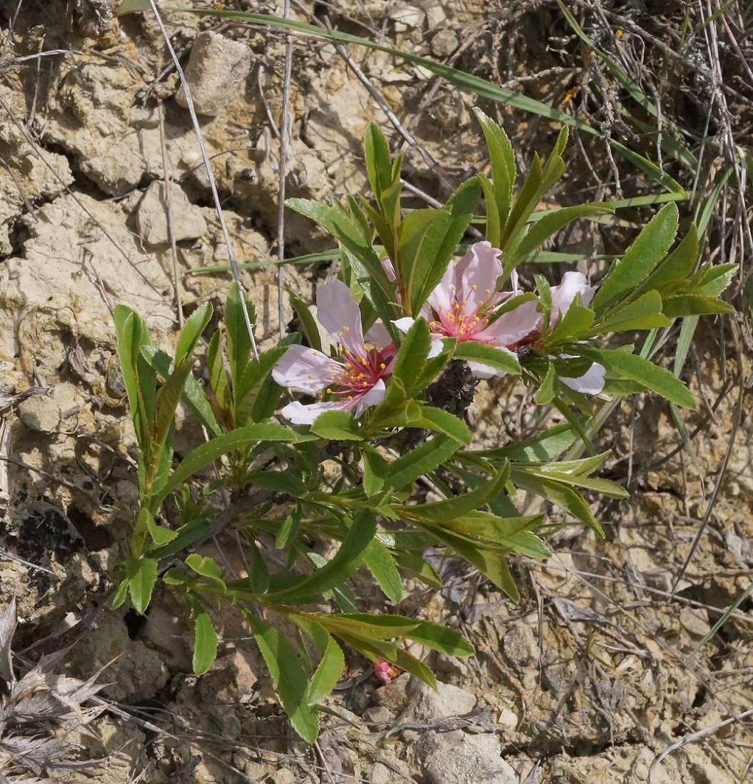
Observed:
[[[502,274],[500,254],[501,251],[492,248],[488,242],[476,242],[458,263],[447,267],[419,314],[429,322],[432,332],[429,357],[440,353],[441,340],[445,337],[455,338],[458,343],[474,341],[508,351],[509,346],[537,328],[540,318],[537,303],[533,300],[523,302],[491,321],[496,307],[522,293],[514,271],[511,276],[512,292],[496,290]],[[395,325],[401,332],[407,332],[414,321],[410,317],[400,318]],[[504,375],[478,362],[469,362],[468,365],[480,378]]]

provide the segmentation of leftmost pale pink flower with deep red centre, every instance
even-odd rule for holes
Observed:
[[[382,402],[385,381],[392,375],[395,346],[382,325],[374,325],[364,340],[360,310],[350,289],[341,281],[329,281],[317,292],[317,318],[337,343],[338,358],[321,351],[291,346],[272,371],[282,387],[320,392],[338,399],[303,405],[298,401],[282,409],[296,425],[310,425],[325,411],[349,411],[360,416]]]

